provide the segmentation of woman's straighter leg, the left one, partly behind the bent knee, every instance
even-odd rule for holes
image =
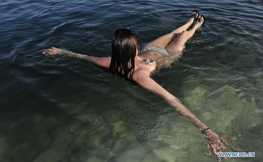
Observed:
[[[184,24],[183,26],[175,29],[174,31],[170,32],[169,34],[166,34],[164,36],[161,36],[160,38],[155,39],[154,41],[151,41],[148,43],[144,48],[165,48],[169,43],[171,43],[181,32],[188,29],[192,23],[194,22],[194,16],[197,16],[197,13],[192,13],[191,18]]]

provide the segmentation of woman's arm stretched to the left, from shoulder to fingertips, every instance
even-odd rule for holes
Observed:
[[[70,52],[67,50],[62,50],[60,48],[55,48],[55,47],[51,47],[50,49],[45,49],[42,53],[44,55],[62,55],[65,57],[81,58],[104,68],[108,68],[111,63],[111,57],[99,58],[99,57],[87,56],[87,55]]]

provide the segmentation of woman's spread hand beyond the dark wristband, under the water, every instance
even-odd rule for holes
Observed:
[[[210,129],[203,131],[203,135],[206,138],[206,142],[207,142],[206,145],[206,148],[208,150],[208,153],[206,153],[207,155],[211,155],[210,147],[216,156],[217,156],[217,152],[222,152],[222,151],[227,152],[225,145],[228,146],[228,142],[223,137],[220,137],[218,134],[216,134]],[[225,145],[220,140],[223,140]],[[217,160],[221,161],[221,158],[218,157]]]

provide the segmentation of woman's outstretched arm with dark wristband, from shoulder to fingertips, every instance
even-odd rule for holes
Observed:
[[[223,137],[220,137],[218,134],[208,128],[204,123],[198,120],[193,113],[191,113],[183,104],[180,103],[177,97],[174,97],[171,93],[162,88],[158,83],[150,78],[149,74],[149,71],[140,69],[135,74],[133,74],[133,80],[136,81],[143,88],[163,97],[177,112],[187,117],[194,125],[196,125],[196,127],[202,131],[204,137],[206,138],[208,155],[211,155],[211,151],[209,149],[210,147],[216,156],[217,152],[227,151],[224,144],[227,146],[228,143],[225,139],[223,139]],[[223,140],[224,144],[220,140]],[[218,157],[218,161],[220,160],[221,158]]]

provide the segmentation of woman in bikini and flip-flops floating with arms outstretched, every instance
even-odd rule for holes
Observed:
[[[190,30],[187,30],[193,24],[194,20],[196,20],[196,23]],[[130,79],[138,83],[141,87],[160,95],[177,112],[187,117],[201,130],[201,133],[207,141],[206,147],[208,149],[208,155],[211,155],[211,150],[217,155],[217,152],[227,151],[225,147],[225,145],[228,145],[227,141],[198,120],[177,97],[167,92],[167,90],[162,88],[150,77],[151,72],[160,67],[169,66],[170,63],[181,56],[181,51],[186,41],[193,36],[196,29],[200,28],[204,22],[204,16],[199,15],[198,12],[194,12],[186,24],[148,43],[141,50],[139,50],[139,39],[135,31],[126,28],[118,29],[111,42],[111,57],[98,58],[86,56],[54,47],[44,50],[43,54],[64,55],[88,60],[89,62],[104,67],[114,74],[123,76],[125,79]],[[223,140],[225,145],[221,140]],[[221,158],[218,157],[218,161],[220,160]]]

